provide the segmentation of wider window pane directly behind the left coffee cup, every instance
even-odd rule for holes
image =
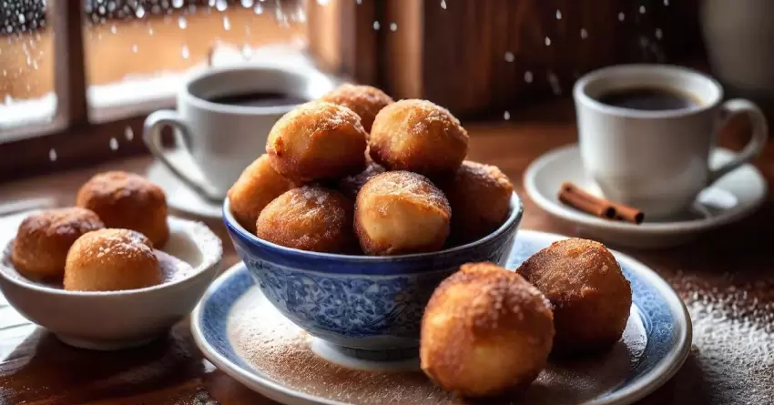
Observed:
[[[239,62],[266,46],[300,54],[300,0],[86,0],[92,120],[168,104],[190,69]],[[287,55],[287,52],[282,55]]]

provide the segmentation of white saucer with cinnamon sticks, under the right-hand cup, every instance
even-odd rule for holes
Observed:
[[[718,148],[710,157],[713,166],[731,159],[734,153]],[[611,245],[629,248],[666,248],[686,243],[708,229],[718,228],[752,214],[767,195],[766,179],[756,167],[744,165],[720,178],[697,198],[692,213],[671,222],[641,225],[596,218],[559,202],[561,184],[571,181],[599,195],[594,181],[586,175],[577,145],[557,148],[538,157],[524,173],[529,197],[549,214],[577,225],[580,233]]]

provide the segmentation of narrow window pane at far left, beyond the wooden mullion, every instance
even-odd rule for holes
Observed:
[[[56,115],[54,31],[45,0],[0,2],[0,142],[45,132]]]

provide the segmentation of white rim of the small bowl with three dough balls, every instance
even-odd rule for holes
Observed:
[[[189,219],[173,216],[168,216],[168,220],[178,221],[183,224],[183,226],[190,227],[191,229],[187,231],[186,238],[193,240],[197,248],[199,248],[199,252],[201,253],[201,263],[199,263],[199,266],[193,268],[193,271],[191,271],[191,274],[189,274],[188,277],[180,278],[172,282],[161,283],[151,287],[145,287],[142,289],[119,289],[117,291],[76,291],[68,289],[57,289],[55,287],[48,287],[45,284],[36,283],[29,278],[25,278],[15,268],[9,268],[8,266],[5,266],[3,260],[0,260],[0,277],[4,278],[8,282],[14,283],[21,288],[34,289],[36,291],[45,292],[47,294],[56,294],[67,297],[123,297],[158,291],[161,289],[173,289],[183,284],[188,284],[188,282],[191,282],[191,280],[194,278],[198,278],[202,274],[206,273],[209,268],[213,268],[219,264],[220,260],[223,258],[223,242],[220,240],[220,238],[218,238],[217,235],[215,235],[214,232],[212,232],[212,229],[199,221],[192,221]],[[13,243],[14,240],[15,238],[6,239],[4,241],[4,245],[0,247],[3,249],[2,252],[0,252],[0,255],[2,255],[4,259],[6,254],[10,254],[10,244]],[[9,271],[15,272],[19,275],[19,277],[12,276],[8,273]],[[202,290],[202,293],[204,293],[204,290]]]

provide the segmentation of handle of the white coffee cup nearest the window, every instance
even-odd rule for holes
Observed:
[[[188,187],[193,188],[200,196],[211,201],[222,201],[223,197],[219,196],[218,192],[209,186],[209,184],[203,182],[199,178],[190,177],[188,174],[190,171],[189,168],[184,169],[179,167],[175,161],[168,157],[168,151],[161,144],[161,129],[167,126],[177,129],[172,131],[172,134],[175,137],[175,145],[178,148],[182,148],[185,153],[190,156],[191,137],[188,126],[185,121],[180,119],[177,112],[171,110],[156,111],[151,113],[148,118],[145,119],[142,139],[150,150],[150,153],[155,157],[158,157],[158,160],[160,160],[172,174],[186,183]]]

